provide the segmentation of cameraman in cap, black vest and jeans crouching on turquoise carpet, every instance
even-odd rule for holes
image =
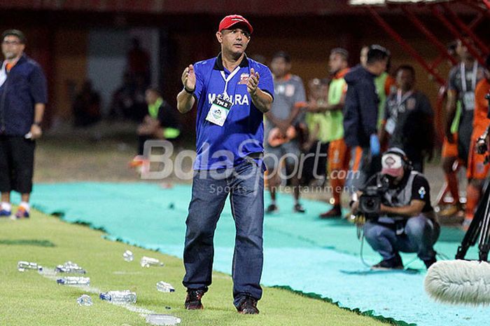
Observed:
[[[377,217],[366,214],[363,227],[367,243],[383,257],[371,268],[403,269],[398,252],[416,252],[428,268],[436,261],[433,245],[440,226],[430,205],[427,179],[412,171],[405,152],[395,147],[383,154],[381,164],[381,173],[373,175],[364,187],[377,186],[381,196]],[[353,212],[363,210],[358,201],[353,201],[352,208]]]

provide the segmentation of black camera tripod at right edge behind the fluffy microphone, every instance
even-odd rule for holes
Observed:
[[[486,100],[490,102],[490,94],[485,95]],[[489,103],[490,113],[490,103]],[[477,140],[477,152],[478,154],[487,154],[485,158],[485,164],[489,163],[488,156],[488,138],[490,134],[490,125],[486,128],[485,133]],[[488,181],[488,180],[487,180]],[[456,252],[456,259],[465,259],[466,252],[470,246],[475,245],[479,238],[478,250],[479,261],[488,262],[489,250],[490,250],[490,185],[486,186],[484,195],[479,201],[475,217],[473,217],[470,227],[458,247]]]

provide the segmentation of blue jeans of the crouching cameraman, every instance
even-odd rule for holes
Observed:
[[[395,257],[397,252],[416,252],[422,260],[435,257],[433,245],[439,238],[439,224],[430,221],[423,215],[410,217],[402,234],[397,235],[390,226],[367,222],[364,225],[364,236],[372,249],[381,254],[383,259]]]

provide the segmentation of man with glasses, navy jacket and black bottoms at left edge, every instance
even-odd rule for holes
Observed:
[[[1,35],[5,60],[0,69],[0,217],[10,216],[10,191],[22,194],[17,218],[29,217],[34,147],[48,102],[47,83],[37,62],[24,54],[26,39],[17,29]]]

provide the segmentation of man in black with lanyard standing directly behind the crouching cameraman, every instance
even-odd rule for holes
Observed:
[[[396,70],[397,90],[388,96],[379,141],[381,147],[403,149],[414,170],[423,173],[423,161],[434,146],[434,112],[428,97],[415,89],[415,70],[402,65]]]

